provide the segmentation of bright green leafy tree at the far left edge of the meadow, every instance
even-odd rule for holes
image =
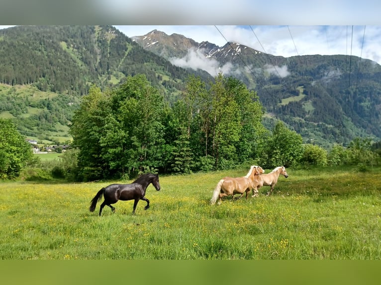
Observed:
[[[33,151],[10,120],[0,119],[0,178],[15,178],[31,161]]]

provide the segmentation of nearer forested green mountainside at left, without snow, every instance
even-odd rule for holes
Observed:
[[[81,96],[143,73],[172,102],[193,73],[143,49],[112,26],[15,26],[0,30],[0,117],[21,134],[65,142]]]

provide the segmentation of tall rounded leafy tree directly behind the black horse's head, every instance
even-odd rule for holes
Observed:
[[[126,167],[129,174],[162,167],[164,97],[143,74],[128,76],[111,96],[113,114],[126,136]]]

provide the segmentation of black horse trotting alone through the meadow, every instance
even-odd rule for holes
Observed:
[[[102,209],[106,205],[110,207],[112,213],[114,213],[115,207],[112,207],[111,204],[115,204],[118,200],[135,200],[132,214],[135,213],[136,205],[139,200],[144,200],[147,202],[147,206],[144,207],[144,210],[147,210],[150,208],[150,201],[145,198],[144,195],[146,195],[146,189],[150,183],[152,183],[157,191],[160,190],[159,175],[152,173],[143,174],[131,184],[110,184],[96,193],[95,197],[91,201],[89,210],[90,212],[94,212],[96,203],[102,199],[102,194],[104,201],[100,205],[99,215],[102,214]]]

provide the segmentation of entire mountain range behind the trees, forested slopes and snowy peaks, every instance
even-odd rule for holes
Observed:
[[[112,26],[15,26],[0,30],[0,117],[21,134],[66,142],[74,110],[90,86],[102,90],[143,73],[173,103],[190,74],[218,72],[244,82],[304,142],[329,147],[381,138],[381,66],[354,56],[266,54],[240,43],[219,47],[153,30],[129,38]]]

